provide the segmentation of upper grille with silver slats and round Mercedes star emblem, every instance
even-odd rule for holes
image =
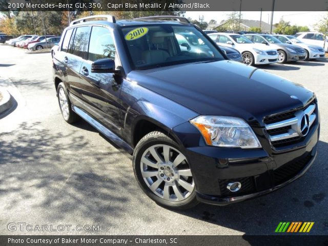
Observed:
[[[316,120],[316,104],[265,117],[263,122],[273,147],[284,147],[301,140]]]

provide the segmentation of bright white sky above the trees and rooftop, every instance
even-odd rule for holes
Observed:
[[[191,17],[192,19],[199,19],[199,16],[204,16],[204,20],[209,22],[211,19],[215,19],[217,23],[220,23],[221,20],[227,19],[229,15],[229,11],[206,11],[206,12],[198,12],[198,11],[188,11],[186,12],[186,17]],[[291,25],[297,26],[308,26],[310,30],[314,31],[314,25],[320,21],[325,15],[327,11],[275,11],[273,14],[273,24],[278,23],[282,18],[285,21],[291,22]],[[243,19],[252,19],[252,20],[260,20],[260,11],[241,11],[241,15]],[[262,12],[262,20],[263,22],[267,22],[270,24],[271,22],[271,11],[263,11]],[[269,20],[269,22],[268,22]]]

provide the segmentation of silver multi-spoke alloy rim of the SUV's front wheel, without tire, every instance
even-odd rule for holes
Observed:
[[[186,156],[169,145],[149,147],[141,156],[140,169],[149,189],[165,200],[185,200],[195,189]]]

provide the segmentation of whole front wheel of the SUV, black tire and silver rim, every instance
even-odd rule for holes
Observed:
[[[133,170],[140,188],[160,206],[185,210],[198,204],[188,158],[164,133],[141,138],[133,153]]]

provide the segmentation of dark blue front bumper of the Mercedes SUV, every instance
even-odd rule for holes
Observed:
[[[185,124],[174,128],[177,136],[180,130],[185,135],[182,144],[196,144],[196,140],[191,140],[194,134],[186,136],[191,128]],[[186,149],[199,201],[227,205],[261,196],[288,185],[311,167],[317,154],[319,121],[305,139],[284,149],[271,147],[264,131],[256,131],[263,149],[210,147],[202,139],[198,140],[198,147]],[[229,191],[230,182],[240,182],[241,189]]]

